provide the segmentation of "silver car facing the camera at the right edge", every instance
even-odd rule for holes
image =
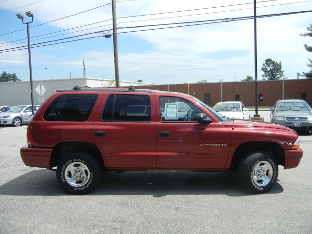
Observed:
[[[312,111],[305,100],[278,100],[270,110],[272,123],[294,130],[312,131]]]

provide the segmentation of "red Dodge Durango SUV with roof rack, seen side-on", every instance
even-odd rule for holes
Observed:
[[[55,170],[60,186],[83,194],[101,170],[237,170],[239,182],[264,193],[278,165],[303,155],[290,128],[221,116],[192,96],[136,89],[58,90],[37,111],[20,149],[27,166]]]

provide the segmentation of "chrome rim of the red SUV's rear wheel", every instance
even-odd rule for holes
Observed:
[[[73,162],[65,169],[65,179],[73,187],[81,187],[90,179],[88,167],[81,162]]]

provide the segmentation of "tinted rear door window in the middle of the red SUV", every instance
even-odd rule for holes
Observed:
[[[102,114],[104,121],[151,121],[151,101],[147,95],[113,94],[107,98]]]

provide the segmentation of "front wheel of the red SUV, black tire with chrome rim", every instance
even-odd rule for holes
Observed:
[[[238,178],[250,193],[261,194],[269,191],[276,182],[278,165],[266,151],[247,153],[239,163]]]

